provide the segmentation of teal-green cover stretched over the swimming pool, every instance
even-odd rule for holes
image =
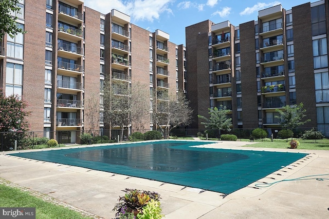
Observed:
[[[214,143],[159,141],[10,155],[225,194],[246,187],[307,155],[190,147],[205,144]]]

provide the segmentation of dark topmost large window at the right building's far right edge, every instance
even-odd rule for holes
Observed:
[[[325,28],[325,5],[311,8],[312,35],[317,36],[326,32]]]

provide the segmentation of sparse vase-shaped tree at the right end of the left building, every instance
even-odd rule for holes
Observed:
[[[182,91],[179,91],[177,95],[168,96],[168,100],[166,95],[160,98],[164,99],[159,99],[158,95],[152,114],[153,121],[161,130],[163,137],[167,139],[172,129],[191,123],[193,110],[189,107],[190,102]]]

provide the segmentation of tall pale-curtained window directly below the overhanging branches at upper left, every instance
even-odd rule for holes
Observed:
[[[16,23],[18,28],[24,30],[24,25]],[[7,34],[7,56],[17,59],[23,59],[23,44],[24,36],[22,33],[17,33],[13,38]]]

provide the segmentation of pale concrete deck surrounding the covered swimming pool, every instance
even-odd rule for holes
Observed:
[[[12,151],[0,152],[0,178],[102,218],[114,218],[115,212],[112,209],[118,197],[124,195],[121,190],[125,188],[158,192],[161,195],[162,212],[167,219],[329,217],[329,180],[315,179],[329,178],[329,175],[310,177],[313,180],[280,182],[266,188],[255,187],[255,184],[262,182],[273,183],[308,175],[329,174],[329,151],[252,148],[250,142],[218,142],[198,147],[300,152],[309,155],[227,196],[7,155]]]

